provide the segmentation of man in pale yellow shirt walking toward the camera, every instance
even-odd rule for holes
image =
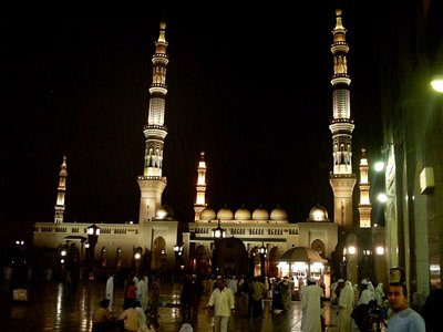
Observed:
[[[223,277],[217,278],[217,288],[210,293],[207,305],[214,308],[214,332],[227,332],[229,318],[235,312],[235,301]]]

